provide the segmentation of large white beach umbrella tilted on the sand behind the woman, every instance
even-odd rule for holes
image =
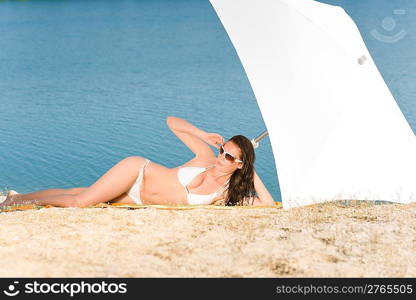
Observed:
[[[416,137],[341,7],[210,1],[256,96],[284,208],[416,201]]]

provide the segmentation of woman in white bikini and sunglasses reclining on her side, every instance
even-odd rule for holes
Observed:
[[[251,141],[242,135],[224,143],[191,123],[168,117],[172,132],[195,154],[176,168],[166,168],[139,157],[127,157],[90,187],[48,189],[28,194],[10,191],[1,206],[38,204],[87,207],[100,202],[129,204],[273,205],[274,201],[254,170]],[[219,150],[218,156],[208,146]]]

